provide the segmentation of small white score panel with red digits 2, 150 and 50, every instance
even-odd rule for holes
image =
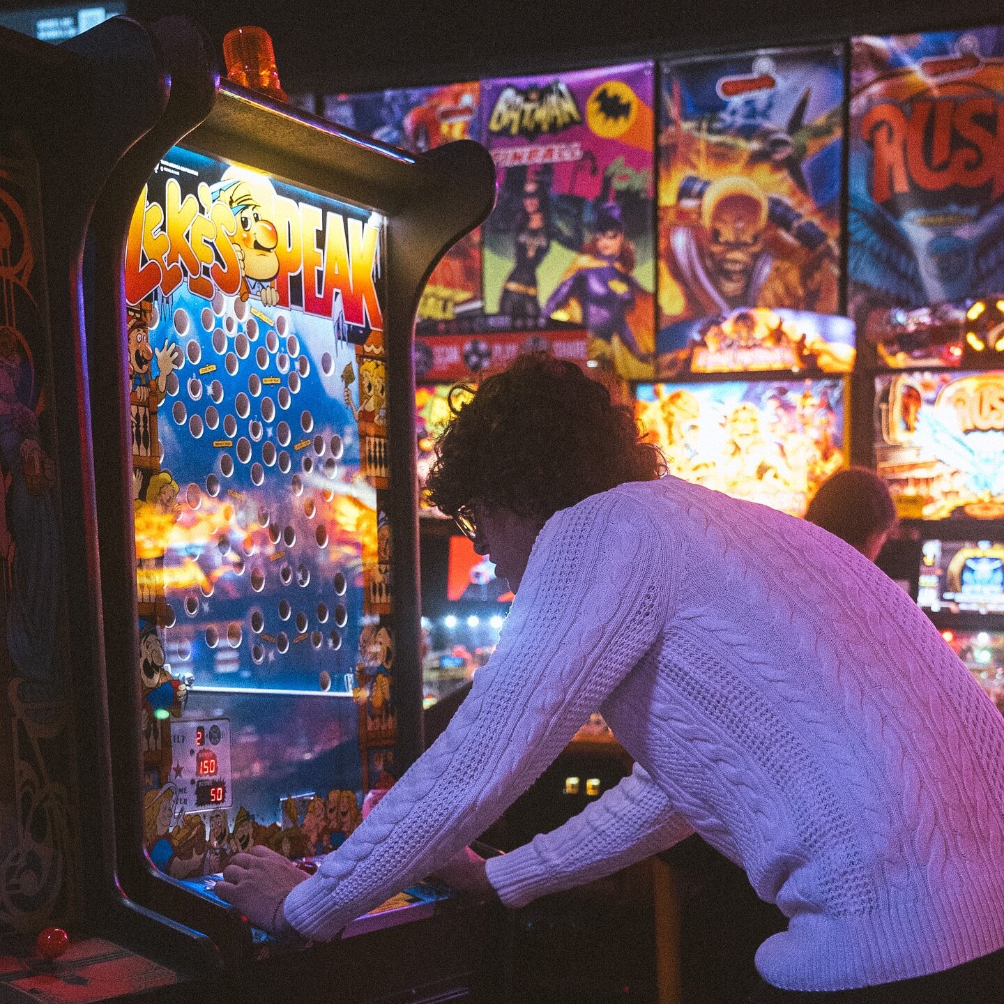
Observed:
[[[173,722],[171,783],[186,812],[229,808],[230,719]]]

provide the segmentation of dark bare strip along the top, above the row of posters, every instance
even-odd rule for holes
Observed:
[[[681,51],[994,23],[986,0],[130,0],[217,41],[259,24],[288,91],[368,90]]]

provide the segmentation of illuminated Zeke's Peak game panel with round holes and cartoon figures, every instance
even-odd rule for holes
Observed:
[[[130,230],[146,845],[336,846],[391,783],[384,219],[180,148]]]

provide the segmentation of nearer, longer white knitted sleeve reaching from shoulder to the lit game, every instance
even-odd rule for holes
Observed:
[[[450,725],[286,898],[298,932],[333,938],[445,863],[533,783],[665,624],[659,541],[643,506],[617,490],[547,521],[498,649]]]

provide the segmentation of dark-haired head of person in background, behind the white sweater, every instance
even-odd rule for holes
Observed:
[[[805,518],[874,561],[896,527],[896,505],[882,478],[848,467],[819,486]]]

